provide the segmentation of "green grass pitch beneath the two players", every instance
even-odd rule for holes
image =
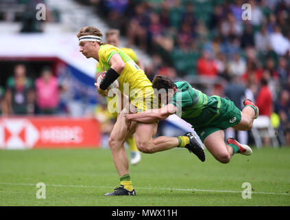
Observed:
[[[290,206],[290,148],[254,148],[229,164],[208,151],[204,163],[186,149],[143,153],[130,175],[136,197],[105,197],[119,185],[108,149],[2,150],[0,206]]]

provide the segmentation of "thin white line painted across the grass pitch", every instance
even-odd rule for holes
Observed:
[[[25,183],[1,183],[0,185],[12,185],[12,186],[36,186],[36,184],[25,184]],[[62,185],[62,184],[45,184],[45,186],[53,187],[75,187],[75,188],[114,188],[112,186],[83,186],[83,185]],[[234,190],[205,190],[198,188],[148,188],[148,187],[137,187],[136,189],[141,190],[176,190],[176,191],[194,191],[194,192],[231,192],[231,193],[242,193],[242,191]],[[253,194],[264,194],[264,195],[290,195],[286,192],[253,192]]]

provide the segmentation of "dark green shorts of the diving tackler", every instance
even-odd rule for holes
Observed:
[[[235,106],[234,102],[226,98],[221,98],[221,110],[219,115],[204,127],[195,128],[195,132],[200,136],[200,140],[214,133],[215,131],[228,129],[239,124],[241,121],[241,111]]]

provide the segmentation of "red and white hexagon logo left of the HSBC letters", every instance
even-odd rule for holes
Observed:
[[[36,127],[26,119],[0,120],[0,147],[7,149],[32,148],[39,139]]]

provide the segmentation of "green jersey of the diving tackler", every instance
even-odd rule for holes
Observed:
[[[219,96],[207,96],[193,89],[186,81],[175,82],[175,85],[178,91],[170,103],[178,108],[176,114],[189,122],[193,128],[204,127],[219,115],[221,108]]]

